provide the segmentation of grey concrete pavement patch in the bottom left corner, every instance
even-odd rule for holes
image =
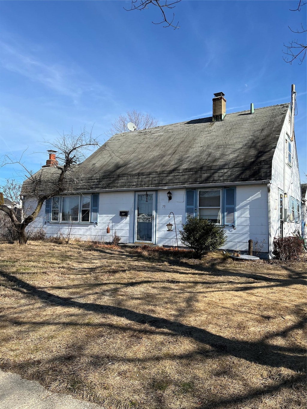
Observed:
[[[47,391],[36,381],[0,370],[0,409],[104,409],[95,403]]]

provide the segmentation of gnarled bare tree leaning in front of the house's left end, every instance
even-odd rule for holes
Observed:
[[[91,132],[89,133],[83,129],[77,135],[73,131],[68,135],[63,134],[53,143],[49,144],[49,146],[56,149],[58,153],[56,161],[54,161],[52,166],[42,168],[36,173],[29,171],[21,161],[21,158],[20,160],[14,160],[6,155],[2,163],[2,166],[6,164],[19,164],[25,173],[25,181],[22,188],[15,181],[7,181],[4,186],[0,187],[0,190],[5,195],[11,196],[10,200],[19,201],[21,195],[24,195],[27,198],[32,198],[34,203],[30,214],[24,214],[21,220],[18,218],[14,207],[0,203],[0,210],[9,216],[17,231],[20,245],[27,243],[26,228],[36,219],[45,200],[52,196],[57,196],[68,189],[68,173],[74,173],[74,178],[76,178],[77,165],[84,160],[86,153],[91,147],[98,146],[98,142],[97,139],[92,137]]]

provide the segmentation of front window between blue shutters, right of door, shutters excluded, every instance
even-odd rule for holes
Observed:
[[[221,190],[199,191],[198,216],[221,224]]]

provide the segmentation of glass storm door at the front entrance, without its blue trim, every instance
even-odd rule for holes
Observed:
[[[136,240],[152,242],[153,193],[138,193]]]

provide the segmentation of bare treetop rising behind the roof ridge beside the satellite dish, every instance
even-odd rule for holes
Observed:
[[[127,111],[126,115],[120,115],[115,119],[106,134],[112,136],[115,135],[115,133],[128,132],[128,122],[133,122],[137,130],[153,128],[158,125],[158,119],[152,117],[150,114],[142,114],[133,109],[132,111]]]

